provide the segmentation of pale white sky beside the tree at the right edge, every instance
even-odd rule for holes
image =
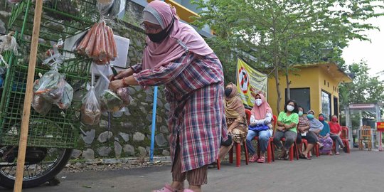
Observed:
[[[370,18],[368,23],[378,26],[380,31],[367,31],[370,41],[353,40],[347,48],[344,48],[342,57],[347,65],[358,62],[361,59],[366,60],[370,68],[370,74],[378,76],[378,72],[384,70],[384,16]],[[380,75],[384,80],[384,75]]]

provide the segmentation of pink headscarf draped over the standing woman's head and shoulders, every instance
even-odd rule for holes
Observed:
[[[170,4],[166,4],[164,1],[151,1],[145,9],[146,12],[153,14],[157,20],[161,20],[158,22],[161,28],[164,29],[169,26],[173,18],[174,26],[169,36],[161,43],[154,43],[148,37],[146,38],[146,47],[144,48],[142,60],[144,70],[167,65],[172,60],[180,58],[183,53],[186,53],[186,49],[202,56],[213,53],[213,50],[195,29],[179,21],[176,9]]]

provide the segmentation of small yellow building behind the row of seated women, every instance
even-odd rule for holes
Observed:
[[[291,99],[304,107],[304,112],[311,109],[316,112],[316,115],[323,113],[328,119],[332,114],[338,115],[338,85],[340,82],[352,82],[351,78],[335,63],[297,65],[295,68],[297,70],[289,74]],[[279,85],[282,93],[280,110],[284,110],[284,104],[287,101],[287,80],[283,73],[279,73]],[[268,79],[268,102],[273,113],[279,114],[274,77]]]

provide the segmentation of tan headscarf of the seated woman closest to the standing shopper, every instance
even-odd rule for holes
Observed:
[[[230,95],[224,99],[225,117],[245,117],[245,108],[244,105],[242,105],[240,97],[238,96],[236,85],[230,82],[227,87],[231,87],[232,92],[230,92]]]

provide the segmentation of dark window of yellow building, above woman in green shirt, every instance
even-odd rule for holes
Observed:
[[[302,106],[304,108],[304,112],[311,109],[311,97],[310,97],[310,89],[308,88],[291,88],[290,96],[291,100],[295,100],[297,105]],[[287,97],[287,89],[285,89],[285,102],[288,101]]]

